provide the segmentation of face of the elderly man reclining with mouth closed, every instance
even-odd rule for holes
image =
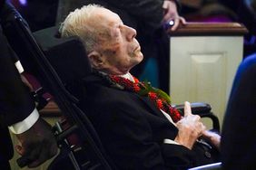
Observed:
[[[107,9],[99,9],[95,15],[94,24],[99,38],[96,50],[103,60],[100,70],[109,74],[124,74],[143,61],[133,28],[124,25],[117,14]]]

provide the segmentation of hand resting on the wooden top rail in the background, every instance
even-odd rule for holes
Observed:
[[[165,24],[172,20],[174,22],[171,29],[172,31],[175,31],[178,28],[180,22],[182,22],[182,24],[186,24],[185,19],[178,14],[177,6],[173,0],[164,0],[162,8],[164,11],[162,24]]]

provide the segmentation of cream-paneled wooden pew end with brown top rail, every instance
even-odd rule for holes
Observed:
[[[238,23],[188,23],[168,33],[172,103],[207,102],[222,124],[247,29]]]

